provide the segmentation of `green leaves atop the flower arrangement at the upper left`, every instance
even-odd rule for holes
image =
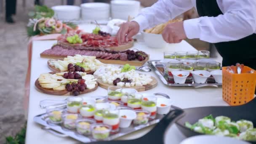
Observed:
[[[48,8],[46,5],[35,5],[35,11],[29,12],[29,16],[33,17],[34,19],[41,19],[43,17],[51,18],[53,15],[54,11],[51,8]]]

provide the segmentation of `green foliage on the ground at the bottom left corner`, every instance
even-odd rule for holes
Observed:
[[[24,126],[24,128],[21,129],[19,133],[16,134],[16,136],[7,136],[5,144],[25,144],[25,137],[26,137],[26,128],[27,125]]]

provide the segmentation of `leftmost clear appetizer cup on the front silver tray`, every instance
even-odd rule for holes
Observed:
[[[52,108],[50,107],[46,107],[46,113],[49,117],[49,121],[50,123],[53,124],[59,124],[62,123],[62,112],[64,112],[65,109],[61,109],[61,108]]]

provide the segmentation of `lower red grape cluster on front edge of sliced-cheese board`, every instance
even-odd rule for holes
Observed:
[[[73,91],[74,96],[78,96],[80,91],[85,91],[87,85],[85,84],[85,80],[84,79],[80,79],[78,80],[77,83],[68,83],[66,85],[66,89],[67,91],[71,92]]]

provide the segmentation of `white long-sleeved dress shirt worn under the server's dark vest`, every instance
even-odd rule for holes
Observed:
[[[224,14],[184,21],[184,30],[189,39],[219,43],[256,33],[256,0],[217,0],[217,3]],[[192,7],[196,7],[196,0],[159,0],[151,7],[144,8],[134,21],[139,23],[142,31],[174,19]]]

